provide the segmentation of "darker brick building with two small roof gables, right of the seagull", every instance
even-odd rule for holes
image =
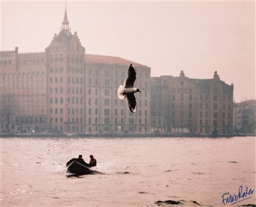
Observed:
[[[232,134],[233,84],[212,79],[151,77],[151,132]]]

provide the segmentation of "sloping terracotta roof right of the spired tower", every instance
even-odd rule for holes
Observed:
[[[129,67],[130,64],[136,66],[147,67],[130,60],[122,59],[121,57],[105,56],[105,55],[89,55],[85,54],[85,63],[98,63],[98,64],[109,64],[109,65],[126,65]]]

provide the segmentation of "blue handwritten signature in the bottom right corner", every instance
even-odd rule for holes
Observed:
[[[246,187],[246,189],[243,189],[242,185],[239,187],[239,190],[238,190],[238,194],[235,194],[233,193],[233,195],[231,193],[224,193],[222,194],[221,198],[222,198],[222,204],[225,205],[225,204],[228,204],[228,203],[232,203],[231,205],[234,205],[238,202],[241,202],[241,201],[244,201],[244,200],[247,200],[249,198],[251,198],[252,194],[254,193],[254,189],[249,189],[248,187]],[[251,197],[248,197],[248,196],[251,196]],[[236,201],[236,202],[235,202]]]

